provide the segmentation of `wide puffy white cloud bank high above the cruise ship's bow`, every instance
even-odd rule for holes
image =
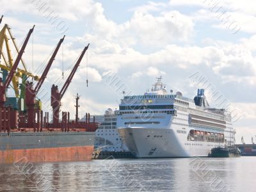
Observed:
[[[164,12],[159,16],[136,11],[131,20],[117,25],[104,17],[104,10],[99,4],[96,7],[98,11],[90,21],[93,32],[84,35],[83,39],[100,47],[98,52],[120,52],[121,47],[141,44],[162,47],[171,42],[186,42],[194,33],[192,20],[177,11]]]

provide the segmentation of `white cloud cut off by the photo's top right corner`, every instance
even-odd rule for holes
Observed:
[[[193,19],[197,21],[211,22],[212,27],[226,29],[230,33],[244,31],[246,33],[255,33],[256,12],[253,6],[256,3],[250,0],[245,1],[211,1],[211,0],[171,0],[171,6],[195,6],[198,8],[192,14]]]

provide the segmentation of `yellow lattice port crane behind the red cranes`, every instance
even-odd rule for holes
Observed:
[[[1,17],[1,19],[3,19],[3,16]],[[15,51],[17,52],[17,54],[19,54],[19,49],[15,42],[15,38],[12,35],[10,27],[8,26],[8,24],[4,24],[3,29],[0,31],[0,68],[3,71],[3,79],[4,79],[4,76],[6,76],[7,72],[10,72],[13,66],[13,56],[11,53],[9,40],[12,40],[12,44],[15,47]],[[8,59],[6,58],[6,56],[4,56],[4,45],[6,47],[6,53],[7,53]],[[1,58],[3,58],[4,62],[1,62]],[[22,59],[20,61],[24,69],[17,68],[17,72],[12,78],[12,86],[13,86],[13,90],[15,92],[16,98],[20,98],[20,95],[22,95],[23,97],[23,94],[24,94],[23,90],[20,90],[20,93],[19,93],[19,78],[22,78],[22,81],[26,81],[27,77],[32,77],[35,81],[38,81],[40,79],[40,77],[34,76],[30,72],[28,72],[24,61]]]

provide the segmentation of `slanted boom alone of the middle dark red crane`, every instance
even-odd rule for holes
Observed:
[[[45,70],[42,74],[42,76],[40,77],[38,83],[36,84],[36,87],[35,87],[35,93],[38,93],[38,91],[40,90],[42,84],[44,83],[44,80],[51,68],[51,65],[56,57],[56,54],[58,53],[59,49],[60,49],[60,45],[62,44],[63,40],[65,38],[65,35],[63,36],[63,38],[61,38],[60,42],[58,43],[56,49],[54,50],[52,56],[51,56],[51,59],[49,60],[49,62],[47,63],[46,67],[45,67]]]

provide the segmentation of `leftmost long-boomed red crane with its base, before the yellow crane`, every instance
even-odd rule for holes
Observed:
[[[32,29],[29,29],[28,35],[26,36],[26,39],[20,49],[20,52],[15,60],[15,63],[12,66],[12,69],[10,70],[10,73],[8,74],[8,77],[6,78],[6,81],[3,83],[3,79],[0,78],[0,108],[4,107],[4,103],[6,102],[5,90],[6,90],[6,88],[8,88],[8,86],[10,85],[10,83],[12,81],[12,77],[15,74],[15,71],[19,65],[21,58],[22,58],[22,54],[25,51],[26,45],[28,44],[28,40],[29,40],[31,34],[33,33],[34,28],[35,28],[35,25],[33,26]]]

